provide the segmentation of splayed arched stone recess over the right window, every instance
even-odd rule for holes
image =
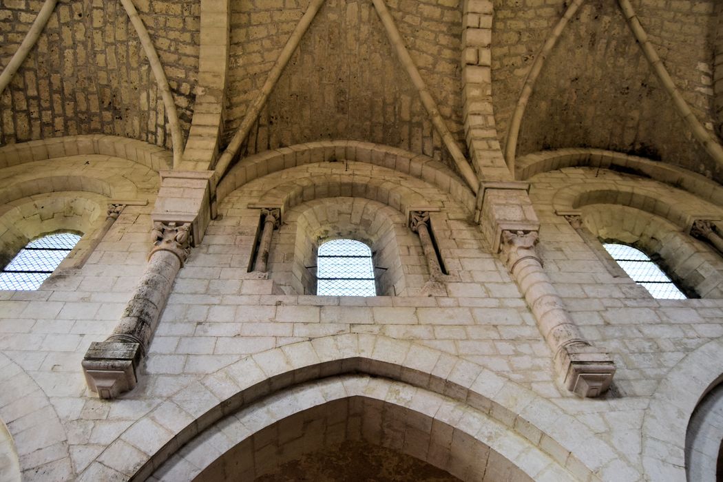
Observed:
[[[723,298],[719,255],[673,223],[637,208],[607,204],[582,207],[581,218],[595,236],[631,244],[651,255],[691,295]]]

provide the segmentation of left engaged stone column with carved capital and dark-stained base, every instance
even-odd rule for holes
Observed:
[[[148,264],[113,334],[92,343],[82,361],[85,380],[101,398],[132,390],[176,274],[190,252],[190,223],[153,223]]]

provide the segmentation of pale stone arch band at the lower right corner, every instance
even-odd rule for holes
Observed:
[[[659,383],[643,418],[646,480],[685,481],[685,441],[693,411],[723,374],[723,338],[688,353]],[[705,367],[701,370],[701,367]]]

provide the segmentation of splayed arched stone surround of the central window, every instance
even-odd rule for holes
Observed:
[[[403,213],[371,199],[329,197],[304,202],[284,216],[273,244],[270,278],[286,293],[315,294],[316,279],[307,267],[316,265],[318,247],[335,238],[352,238],[372,249],[378,295],[402,296],[410,288],[421,289],[429,273],[419,238],[406,224]],[[293,262],[286,253],[294,253]],[[402,264],[401,256],[406,263]],[[416,264],[411,262],[415,256]]]

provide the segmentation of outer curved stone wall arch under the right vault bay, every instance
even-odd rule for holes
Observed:
[[[559,149],[523,155],[515,160],[515,178],[525,181],[532,176],[562,168],[586,166],[631,173],[652,178],[669,186],[723,205],[723,188],[700,174],[667,163],[603,149]]]

